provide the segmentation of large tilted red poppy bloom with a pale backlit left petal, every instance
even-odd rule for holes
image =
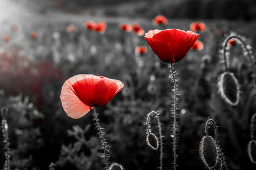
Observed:
[[[60,99],[68,117],[81,118],[93,107],[107,104],[123,87],[119,80],[78,74],[65,81]]]

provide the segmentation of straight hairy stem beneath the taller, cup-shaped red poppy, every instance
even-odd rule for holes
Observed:
[[[177,166],[177,153],[176,153],[176,148],[177,148],[177,114],[176,114],[176,104],[177,104],[177,92],[178,92],[178,88],[177,88],[177,80],[176,80],[176,76],[175,76],[175,66],[173,65],[173,63],[169,64],[169,67],[171,67],[171,73],[172,73],[172,80],[173,80],[173,107],[171,109],[171,112],[173,114],[173,164],[174,167],[173,169],[176,170],[176,166]]]

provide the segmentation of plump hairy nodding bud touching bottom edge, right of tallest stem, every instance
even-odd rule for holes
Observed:
[[[199,154],[203,163],[209,169],[216,167],[220,162],[220,149],[211,136],[204,136],[200,142]]]

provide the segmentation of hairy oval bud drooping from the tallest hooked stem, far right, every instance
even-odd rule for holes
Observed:
[[[221,97],[230,105],[236,106],[239,103],[239,84],[231,72],[224,72],[218,78],[218,90]]]

